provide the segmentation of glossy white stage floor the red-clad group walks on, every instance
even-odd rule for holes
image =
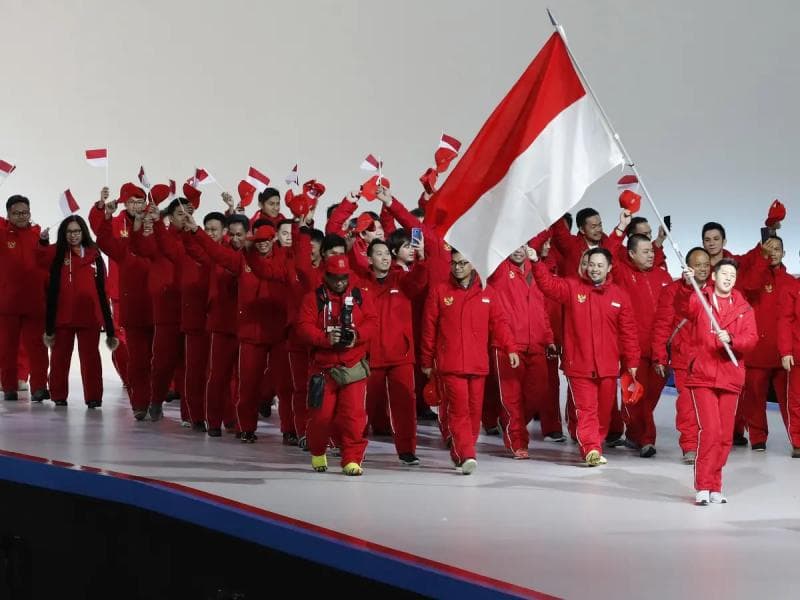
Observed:
[[[71,386],[80,390],[79,380]],[[532,460],[514,461],[498,438],[482,436],[469,477],[454,471],[430,426],[420,427],[420,467],[400,466],[387,440],[371,441],[364,476],[349,478],[338,468],[314,473],[308,453],[283,446],[277,411],[244,445],[180,427],[177,403],[162,422],[135,422],[114,379],[104,402],[88,411],[73,393],[57,409],[20,394],[0,403],[0,448],[179,483],[564,598],[752,600],[800,590],[800,460],[775,410],[767,453],[734,448],[729,504],[696,507],[669,394],[653,459],[611,449],[607,466],[589,469],[574,444],[536,439]]]

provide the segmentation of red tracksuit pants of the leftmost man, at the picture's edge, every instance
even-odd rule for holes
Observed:
[[[31,369],[31,391],[47,387],[47,348],[42,343],[44,318],[0,315],[0,371],[2,387],[14,392],[21,377],[17,371],[20,341]]]

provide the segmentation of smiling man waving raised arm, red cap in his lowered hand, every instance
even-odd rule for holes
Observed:
[[[636,378],[639,339],[630,297],[609,281],[611,252],[586,252],[586,277],[559,278],[531,251],[533,276],[545,296],[564,305],[564,358],[577,413],[576,437],[590,467],[605,464],[608,432],[620,368]]]

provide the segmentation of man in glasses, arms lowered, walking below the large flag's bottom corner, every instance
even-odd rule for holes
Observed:
[[[453,464],[469,475],[478,467],[475,442],[489,374],[489,346],[502,348],[512,369],[519,366],[519,355],[494,290],[483,288],[472,263],[456,249],[450,269],[449,281],[434,286],[428,295],[420,364],[428,378],[434,369],[439,377],[444,394],[440,428],[450,444]]]

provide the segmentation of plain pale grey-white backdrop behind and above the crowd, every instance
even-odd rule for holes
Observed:
[[[465,143],[552,32],[532,0],[3,0],[0,158],[37,222],[70,187],[88,209],[103,184],[83,150],[110,149],[114,194],[140,164],[153,182],[207,168],[234,191],[249,165],[283,191],[301,177],[323,204],[380,154],[413,204],[442,130]],[[687,250],[707,220],[729,248],[789,209],[800,270],[800,3],[552,0],[573,50]],[[613,226],[616,174],[581,203]],[[205,189],[201,212],[217,209]],[[649,215],[648,211],[644,212]],[[674,268],[675,260],[671,261]]]

